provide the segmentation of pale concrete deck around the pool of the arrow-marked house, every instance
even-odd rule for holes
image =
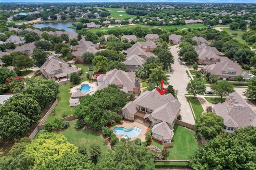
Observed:
[[[134,122],[125,121],[125,122],[123,122],[122,125],[113,126],[113,127],[111,127],[111,129],[114,130],[116,127],[124,127],[124,128],[126,128],[126,129],[132,129],[132,127],[134,127],[134,126],[135,126],[135,127],[138,127],[138,128],[140,128],[140,129],[142,129],[141,133],[140,133],[137,137],[131,138],[131,140],[133,141],[133,140],[135,140],[136,138],[139,138],[139,139],[141,139],[141,141],[146,141],[146,140],[145,140],[145,137],[146,137],[146,136],[144,135],[144,134],[146,133],[147,129],[148,129],[148,126],[146,126],[146,125],[148,125],[148,124],[143,125],[143,124],[138,123],[138,122],[136,122],[136,121],[134,121]],[[116,137],[118,137],[119,139],[121,139],[122,135],[117,135],[117,134],[116,134]]]

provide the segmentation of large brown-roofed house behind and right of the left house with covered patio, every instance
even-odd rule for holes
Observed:
[[[72,47],[72,54],[76,57],[77,61],[83,61],[82,55],[84,52],[97,53],[100,45],[94,44],[91,41],[83,41],[79,45]]]

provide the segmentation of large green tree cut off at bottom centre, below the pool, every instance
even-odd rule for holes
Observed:
[[[154,170],[152,155],[148,148],[134,142],[120,143],[100,157],[96,170]]]

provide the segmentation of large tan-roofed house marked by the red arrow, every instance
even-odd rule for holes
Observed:
[[[151,92],[143,92],[136,100],[126,104],[122,108],[122,115],[130,121],[149,121],[153,126],[152,137],[161,141],[164,147],[170,147],[180,106],[180,102],[172,94],[160,95],[154,89]]]

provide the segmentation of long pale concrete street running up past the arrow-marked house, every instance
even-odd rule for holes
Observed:
[[[186,74],[184,65],[179,64],[177,60],[177,57],[178,57],[177,52],[179,50],[180,49],[177,48],[177,45],[170,47],[170,51],[174,56],[174,64],[172,64],[172,72],[168,73],[170,75],[170,80],[168,80],[168,82],[173,86],[175,90],[179,91],[177,98],[181,103],[180,114],[182,115],[182,121],[194,125],[195,120],[192,115],[192,111],[186,100],[186,97],[184,96],[185,94],[187,94],[186,87],[188,82],[190,82],[190,80]]]

